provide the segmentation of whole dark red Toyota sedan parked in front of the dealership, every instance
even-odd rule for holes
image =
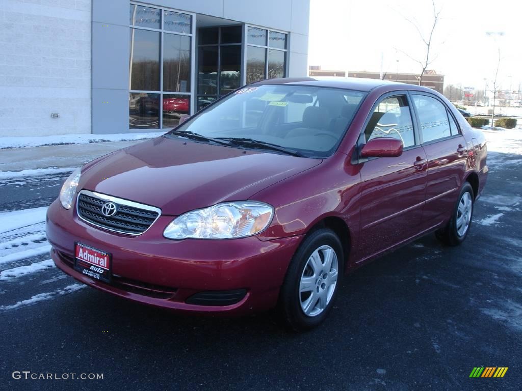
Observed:
[[[321,323],[342,276],[435,232],[468,235],[486,143],[441,94],[365,79],[272,79],[76,170],[50,207],[65,273],[191,313],[277,307]]]

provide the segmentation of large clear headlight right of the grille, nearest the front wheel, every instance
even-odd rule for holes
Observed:
[[[169,239],[234,239],[263,231],[274,208],[263,202],[226,202],[176,217],[163,235]]]

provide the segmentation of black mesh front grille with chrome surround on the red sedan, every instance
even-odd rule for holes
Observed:
[[[106,202],[116,205],[116,213],[105,216],[102,206]],[[143,234],[160,215],[160,210],[149,205],[105,196],[82,190],[78,194],[78,216],[88,223],[123,234]]]

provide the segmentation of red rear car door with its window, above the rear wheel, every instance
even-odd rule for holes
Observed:
[[[411,93],[411,97],[428,157],[423,220],[433,226],[448,218],[455,206],[468,151],[457,122],[441,100],[428,93]]]

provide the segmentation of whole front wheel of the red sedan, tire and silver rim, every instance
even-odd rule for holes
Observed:
[[[342,246],[330,229],[314,231],[295,252],[279,298],[280,316],[294,331],[318,326],[328,315],[343,272]]]

